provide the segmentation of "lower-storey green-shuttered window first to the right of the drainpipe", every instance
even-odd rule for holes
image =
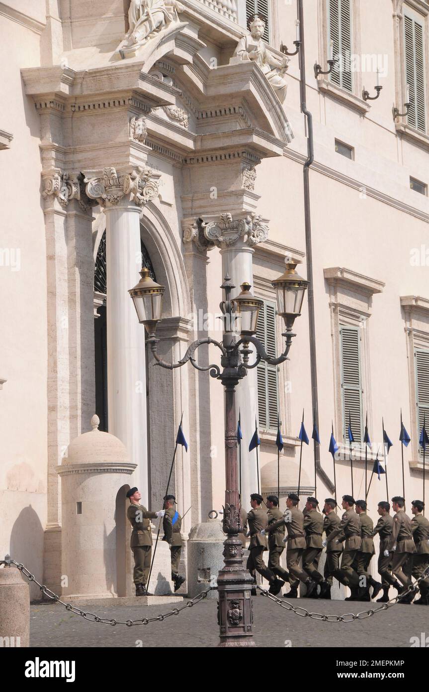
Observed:
[[[355,442],[363,438],[361,334],[359,327],[341,325],[341,397],[343,399],[343,433],[348,441],[349,413]]]

